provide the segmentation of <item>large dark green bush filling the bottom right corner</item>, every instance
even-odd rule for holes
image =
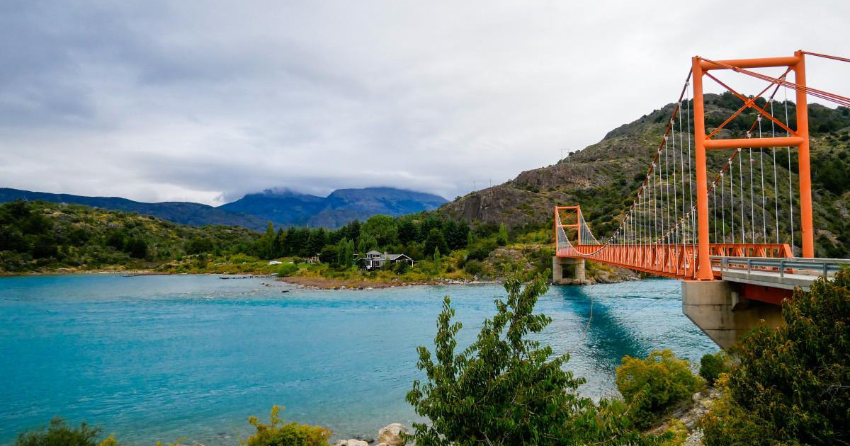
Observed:
[[[731,349],[728,401],[706,417],[706,445],[850,444],[850,271],[783,302],[785,324]]]

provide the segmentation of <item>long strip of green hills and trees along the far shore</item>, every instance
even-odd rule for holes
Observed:
[[[228,226],[196,228],[128,212],[43,201],[0,205],[0,273],[144,269],[164,274],[280,274],[337,282],[489,280],[546,271],[549,229],[467,224],[426,212],[377,215],[340,229],[289,228],[263,234]],[[410,263],[367,271],[368,251]],[[609,274],[591,265],[588,274]]]

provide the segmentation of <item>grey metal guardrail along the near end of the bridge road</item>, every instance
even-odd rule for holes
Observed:
[[[721,271],[743,271],[752,274],[758,272],[785,274],[806,274],[829,276],[842,268],[850,267],[850,259],[842,258],[804,258],[804,257],[721,257],[711,256],[712,263],[720,264]]]

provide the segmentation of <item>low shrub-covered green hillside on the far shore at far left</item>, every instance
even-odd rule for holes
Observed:
[[[0,205],[0,272],[152,268],[198,252],[250,251],[259,234],[48,201]]]

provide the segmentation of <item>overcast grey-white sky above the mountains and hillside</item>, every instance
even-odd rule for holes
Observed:
[[[696,54],[847,56],[848,20],[847,0],[2,0],[0,187],[452,199],[672,102]],[[848,65],[811,59],[808,82],[848,95]]]

